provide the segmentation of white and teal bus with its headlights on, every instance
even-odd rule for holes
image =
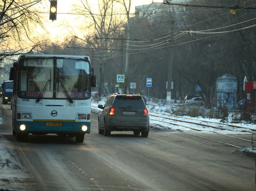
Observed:
[[[58,134],[83,142],[91,127],[91,87],[96,77],[86,56],[21,55],[13,80],[13,135]]]

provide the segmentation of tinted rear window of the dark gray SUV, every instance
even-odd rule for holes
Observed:
[[[145,103],[142,97],[139,96],[116,96],[113,102],[113,106],[116,107],[132,107],[132,108],[143,108]]]

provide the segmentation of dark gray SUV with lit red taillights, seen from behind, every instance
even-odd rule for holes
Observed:
[[[148,109],[142,96],[118,95],[108,97],[104,107],[98,105],[102,111],[99,115],[99,134],[109,136],[111,131],[133,131],[135,135],[141,133],[148,137],[149,116]]]

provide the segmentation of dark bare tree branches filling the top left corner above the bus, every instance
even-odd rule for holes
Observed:
[[[32,38],[35,26],[43,28],[40,14],[34,9],[38,2],[38,0],[2,0],[0,2],[0,61],[2,64],[20,53],[33,51],[40,44],[38,40],[33,41]],[[32,42],[30,45],[27,44],[28,40]]]

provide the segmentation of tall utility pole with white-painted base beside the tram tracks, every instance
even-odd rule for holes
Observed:
[[[171,36],[169,47],[169,64],[168,64],[168,85],[166,96],[166,112],[170,113],[171,108],[171,91],[172,91],[172,68],[173,68],[173,41],[174,41],[174,19],[171,20]]]

